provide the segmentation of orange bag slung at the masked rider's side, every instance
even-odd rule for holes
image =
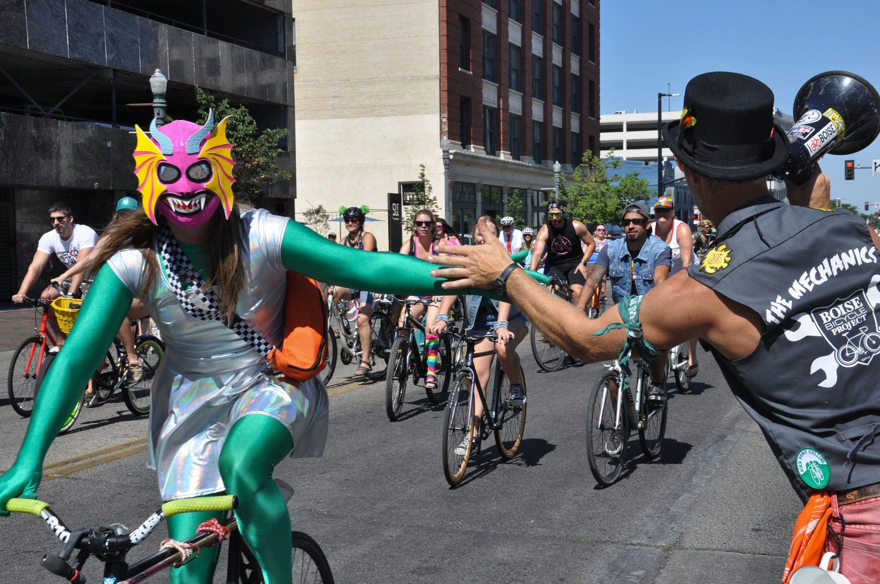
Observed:
[[[284,297],[284,341],[268,354],[275,371],[308,381],[326,367],[327,303],[317,281],[287,273]]]

